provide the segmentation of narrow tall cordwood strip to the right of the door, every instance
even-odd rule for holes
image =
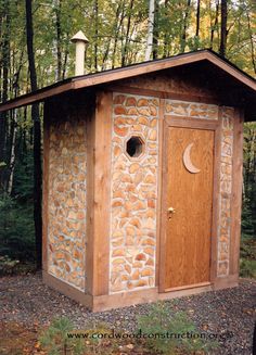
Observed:
[[[220,196],[217,275],[229,275],[233,154],[233,107],[221,109]]]

